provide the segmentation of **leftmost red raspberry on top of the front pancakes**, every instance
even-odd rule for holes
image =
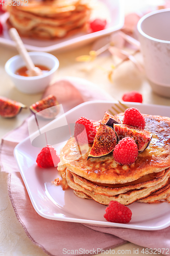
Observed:
[[[78,143],[93,143],[96,134],[96,127],[86,117],[80,117],[75,124],[74,137]]]

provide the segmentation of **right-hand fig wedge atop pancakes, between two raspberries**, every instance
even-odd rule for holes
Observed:
[[[113,129],[117,135],[117,139],[121,140],[125,137],[134,138],[139,152],[143,152],[150,144],[152,133],[137,129],[126,124],[113,124]]]

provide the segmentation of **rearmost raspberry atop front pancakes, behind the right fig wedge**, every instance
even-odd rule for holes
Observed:
[[[130,108],[127,109],[124,113],[123,124],[144,129],[145,120],[138,109]]]

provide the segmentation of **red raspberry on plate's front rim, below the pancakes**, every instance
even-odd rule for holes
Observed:
[[[128,223],[132,217],[132,211],[125,205],[117,201],[110,201],[106,207],[104,218],[110,222]]]

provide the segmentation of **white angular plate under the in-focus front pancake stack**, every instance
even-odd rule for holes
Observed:
[[[67,123],[85,116],[89,119],[100,120],[105,111],[114,105],[113,101],[88,101],[76,106],[76,108],[65,114]],[[128,103],[128,106],[135,107],[143,114],[161,115],[170,117],[170,107],[160,105],[148,105],[140,103]],[[54,124],[57,124],[63,116],[50,122],[45,129],[50,131]],[[46,131],[46,130],[45,130]],[[56,144],[57,153],[66,143],[67,136],[61,132],[60,137],[63,143]],[[103,217],[106,206],[96,203],[93,200],[77,197],[69,188],[65,191],[61,186],[52,183],[59,177],[56,168],[42,169],[36,164],[36,157],[41,148],[34,147],[30,138],[19,143],[14,150],[18,167],[28,190],[31,202],[37,213],[47,219],[95,224],[106,227],[125,227],[141,230],[158,230],[170,226],[170,204],[145,204],[135,202],[128,207],[132,210],[132,220],[128,224],[107,222]]]

